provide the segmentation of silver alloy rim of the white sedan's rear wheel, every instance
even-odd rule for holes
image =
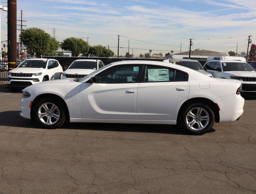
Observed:
[[[209,121],[209,113],[201,107],[190,109],[186,115],[186,124],[192,130],[200,131],[205,129]]]

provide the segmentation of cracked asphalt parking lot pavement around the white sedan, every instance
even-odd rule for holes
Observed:
[[[22,118],[0,85],[0,193],[254,193],[256,100],[202,136],[176,126],[68,124]],[[235,106],[235,104],[234,104]]]

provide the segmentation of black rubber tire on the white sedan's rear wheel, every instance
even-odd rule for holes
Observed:
[[[195,135],[201,135],[201,134],[204,134],[206,133],[207,131],[211,130],[213,125],[214,125],[214,121],[215,121],[215,116],[214,116],[214,113],[212,111],[212,109],[210,108],[211,106],[209,106],[208,104],[203,104],[203,103],[191,103],[189,104],[188,106],[182,108],[181,112],[180,112],[180,116],[178,118],[178,124],[183,128],[185,129],[186,131],[188,131],[190,134],[195,134]],[[208,113],[208,124],[207,124],[207,121],[206,120],[203,120],[201,121],[201,116],[199,118],[198,115],[195,115],[194,118],[188,116],[188,120],[187,120],[187,114],[188,112],[190,112],[190,110],[192,110],[192,113],[196,113],[194,111],[197,111],[196,108],[202,108],[202,114],[204,116],[207,117],[207,114],[206,112]],[[206,112],[205,112],[206,111]],[[203,116],[203,117],[204,117]],[[200,120],[200,121],[199,121]],[[188,124],[190,122],[192,122],[192,124],[190,126],[188,126]],[[203,125],[205,125],[204,128],[202,128],[202,130],[200,130],[200,123],[202,123]],[[194,124],[193,124],[194,123]],[[192,128],[198,128],[198,130],[194,130]]]

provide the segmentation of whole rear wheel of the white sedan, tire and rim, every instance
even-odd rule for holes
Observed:
[[[192,134],[204,134],[214,125],[214,113],[207,104],[190,104],[180,115],[181,126]]]

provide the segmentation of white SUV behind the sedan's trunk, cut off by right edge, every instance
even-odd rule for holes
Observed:
[[[214,78],[239,80],[241,92],[256,92],[256,71],[245,61],[209,60],[204,67]]]

